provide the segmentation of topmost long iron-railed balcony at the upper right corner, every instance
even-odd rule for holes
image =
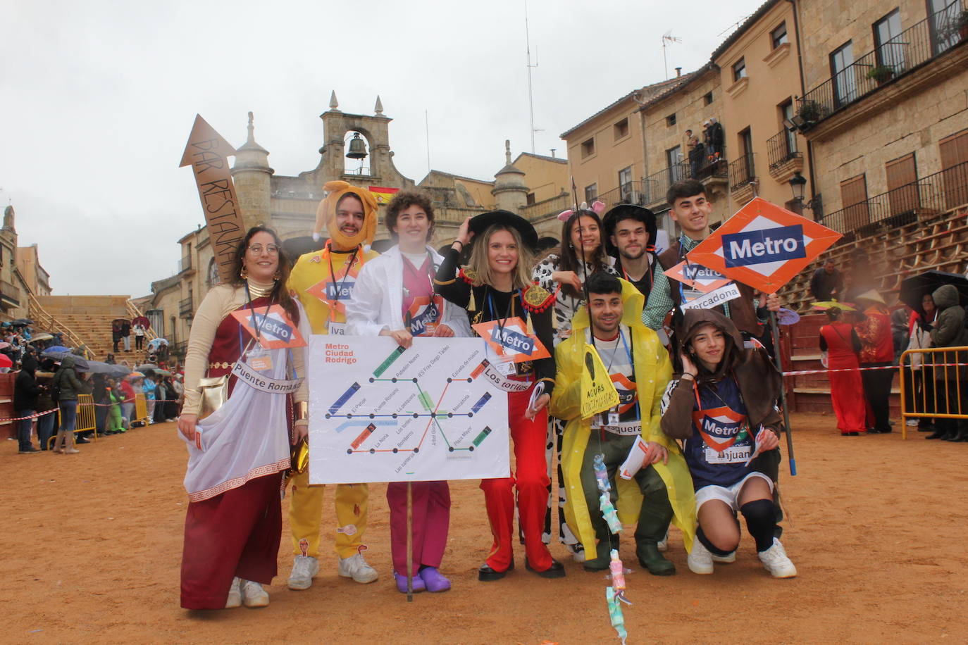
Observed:
[[[965,41],[962,2],[908,27],[798,99],[797,116],[807,132],[834,113],[911,73]],[[798,119],[795,119],[798,121]]]

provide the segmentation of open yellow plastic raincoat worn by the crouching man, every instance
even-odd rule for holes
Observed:
[[[682,531],[686,550],[692,549],[696,535],[696,497],[692,478],[685,465],[679,444],[667,437],[659,427],[659,404],[666,386],[672,378],[672,364],[668,352],[658,337],[642,324],[644,297],[630,282],[620,280],[623,313],[621,322],[632,335],[632,355],[635,366],[635,385],[639,396],[639,409],[642,413],[642,438],[661,444],[669,451],[669,463],[661,461],[653,467],[665,482],[672,504],[672,522]],[[588,308],[580,308],[571,321],[573,333],[563,340],[555,351],[558,365],[555,392],[549,411],[552,415],[566,421],[561,447],[561,470],[564,475],[565,496],[564,517],[568,526],[585,545],[586,557],[597,557],[595,534],[591,527],[589,509],[580,477],[582,460],[589,448],[591,435],[590,419],[581,419],[581,376],[584,368],[585,330],[589,328]],[[648,416],[647,416],[648,415]],[[618,512],[623,524],[638,521],[642,507],[642,492],[632,480],[617,478],[619,490]]]

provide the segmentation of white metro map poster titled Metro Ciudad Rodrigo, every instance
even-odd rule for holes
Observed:
[[[313,484],[507,477],[507,396],[481,338],[311,337]]]

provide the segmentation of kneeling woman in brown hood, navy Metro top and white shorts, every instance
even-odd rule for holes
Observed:
[[[711,573],[713,562],[735,559],[739,512],[767,571],[793,577],[797,569],[773,537],[773,483],[759,471],[757,457],[779,445],[773,404],[780,376],[766,352],[743,348],[736,325],[718,311],[687,310],[677,334],[685,350],[682,374],[666,391],[662,431],[685,441],[696,489],[699,529],[689,569]]]

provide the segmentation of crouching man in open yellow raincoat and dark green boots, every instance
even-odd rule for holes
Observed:
[[[690,549],[696,504],[679,445],[659,427],[659,403],[672,377],[669,355],[655,333],[642,324],[644,299],[632,284],[598,273],[589,278],[588,289],[589,305],[575,314],[572,336],[555,352],[558,376],[550,411],[567,421],[561,450],[568,500],[565,519],[585,544],[585,569],[608,569],[609,550],[618,548],[619,541],[599,508],[593,459],[603,454],[620,520],[638,521],[635,543],[640,564],[654,575],[671,575],[676,567],[662,556],[657,543],[671,521],[681,529],[686,550]],[[607,412],[582,419],[583,357],[592,334],[620,401]],[[616,472],[639,436],[647,442],[642,468],[631,480],[617,480]]]

